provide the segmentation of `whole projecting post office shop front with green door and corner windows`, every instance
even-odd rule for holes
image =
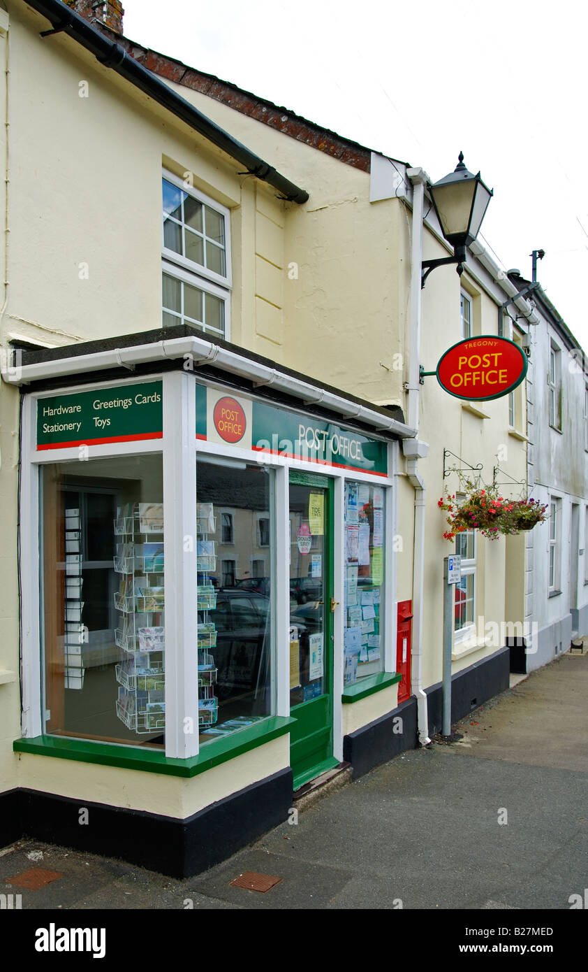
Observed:
[[[396,708],[409,430],[230,345],[149,337],[21,370],[12,799],[23,832],[182,875]]]

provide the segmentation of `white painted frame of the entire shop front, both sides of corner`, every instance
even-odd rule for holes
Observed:
[[[80,459],[77,446],[48,451],[36,449],[36,411],[40,399],[56,394],[75,394],[100,389],[118,389],[121,385],[145,382],[163,382],[163,439],[146,439],[136,442],[113,442],[88,446],[88,460],[110,459],[117,456],[162,453],[163,463],[163,501],[164,501],[164,543],[165,579],[168,592],[174,592],[169,604],[166,597],[166,634],[176,649],[166,659],[166,758],[187,759],[198,754],[199,734],[184,733],[183,719],[186,715],[198,722],[198,680],[193,664],[193,632],[197,623],[197,601],[193,591],[197,585],[196,558],[191,548],[184,543],[185,537],[197,535],[197,511],[193,497],[196,489],[196,457],[207,457],[209,462],[229,466],[238,461],[259,463],[259,452],[253,449],[235,449],[224,443],[214,443],[196,438],[196,386],[191,375],[183,371],[165,373],[153,372],[148,376],[129,377],[126,380],[87,381],[80,385],[69,385],[67,379],[57,389],[47,392],[33,392],[23,397],[22,440],[20,460],[22,464],[19,491],[20,508],[20,572],[21,585],[21,645],[22,645],[22,736],[33,738],[44,735],[45,720],[43,681],[40,669],[43,664],[41,636],[42,590],[39,579],[40,569],[40,503],[39,470],[55,462]],[[213,382],[204,382],[205,385]],[[285,409],[286,411],[288,409]],[[179,428],[180,416],[180,428]],[[353,481],[369,484],[377,483],[385,491],[385,546],[387,591],[390,596],[384,599],[384,671],[393,672],[396,665],[397,618],[395,587],[397,576],[396,539],[398,538],[398,484],[400,483],[400,445],[398,441],[388,442],[388,473],[377,478],[369,472],[353,470]],[[292,460],[280,454],[265,457],[265,464],[275,472],[272,478],[271,508],[263,514],[271,519],[271,530],[275,531],[275,546],[271,543],[270,566],[268,574],[275,577],[277,598],[273,601],[272,625],[276,632],[273,645],[271,691],[273,714],[289,717],[289,667],[288,667],[288,622],[289,622],[289,519],[288,519],[288,472],[300,469],[316,473],[316,465],[310,460]],[[343,524],[343,492],[347,471],[343,468],[327,467],[321,474],[334,482],[335,523]],[[343,574],[345,567],[345,544],[342,530],[334,530],[334,590],[337,603],[343,603]],[[267,549],[267,548],[265,548]],[[259,558],[261,559],[261,558]],[[173,603],[172,603],[173,602]],[[380,625],[380,631],[382,626]],[[336,644],[343,644],[343,613],[334,614],[334,638]],[[334,656],[334,685],[343,691],[343,651]],[[168,727],[169,721],[169,727]],[[333,712],[334,755],[343,759],[343,706],[341,694],[334,693]],[[75,738],[75,737],[74,737]],[[90,741],[94,742],[94,741]],[[102,745],[102,744],[101,744]],[[114,747],[117,744],[104,744]],[[148,768],[148,764],[146,766]]]

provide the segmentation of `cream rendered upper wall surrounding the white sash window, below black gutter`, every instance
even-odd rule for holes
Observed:
[[[283,204],[275,193],[238,176],[239,163],[75,42],[41,39],[47,22],[11,6],[10,211],[17,219],[4,339],[16,330],[66,344],[161,327],[163,164],[190,173],[195,188],[232,210],[231,339],[270,354],[280,328],[256,304],[281,304]],[[83,82],[87,97],[80,97]],[[250,295],[254,276],[257,295]]]

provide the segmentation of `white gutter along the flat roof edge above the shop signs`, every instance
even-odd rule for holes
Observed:
[[[136,364],[148,364],[162,359],[189,360],[191,364],[213,364],[221,371],[236,374],[255,386],[272,386],[279,392],[295,399],[301,399],[306,405],[320,405],[336,412],[339,417],[356,420],[371,426],[380,433],[393,434],[398,438],[411,438],[414,430],[409,429],[403,422],[391,416],[376,412],[367,405],[352,399],[335,395],[320,385],[313,385],[301,381],[293,375],[285,374],[277,368],[253,361],[245,355],[237,354],[219,344],[212,344],[200,337],[169,338],[149,344],[138,344],[126,348],[114,348],[110,351],[98,351],[87,355],[76,355],[71,358],[58,358],[53,361],[38,364],[23,364],[3,370],[2,377],[7,384],[24,385],[31,381],[42,381],[46,378],[60,378],[68,375],[95,373],[114,367],[126,367],[131,370]]]

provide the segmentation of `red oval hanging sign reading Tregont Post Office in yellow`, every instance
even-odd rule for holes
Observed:
[[[437,365],[441,388],[456,399],[488,401],[508,395],[527,373],[527,356],[506,337],[481,334],[458,341]]]

